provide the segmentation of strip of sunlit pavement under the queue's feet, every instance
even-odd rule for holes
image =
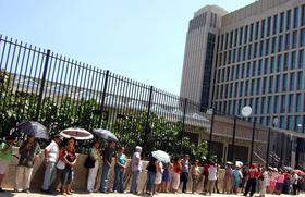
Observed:
[[[47,197],[47,196],[62,196],[60,195],[60,193],[54,193],[52,195],[46,195],[46,194],[41,194],[41,193],[30,193],[30,194],[26,194],[26,193],[13,193],[12,190],[8,190],[5,193],[0,193],[0,197]],[[144,196],[144,197],[148,197],[148,195],[146,194],[138,194],[138,195],[134,195],[134,194],[118,194],[118,193],[109,193],[109,194],[101,194],[101,193],[78,193],[75,192],[73,195],[68,195],[66,197],[86,197],[86,196],[90,196],[90,197],[102,197],[102,196],[108,196],[108,197],[137,197],[137,196]],[[191,194],[191,193],[186,193],[186,194],[171,194],[171,193],[159,193],[158,195],[154,195],[155,197],[171,197],[171,196],[178,196],[178,197],[196,197],[196,196],[205,196],[204,194]],[[234,197],[234,196],[242,196],[242,194],[239,195],[228,195],[228,194],[212,194],[211,196],[213,197]],[[258,194],[255,194],[255,196],[259,196]],[[266,197],[274,197],[277,195],[266,195]],[[288,196],[292,196],[292,195],[281,195],[281,197],[288,197]],[[305,194],[300,194],[297,196],[304,196]]]

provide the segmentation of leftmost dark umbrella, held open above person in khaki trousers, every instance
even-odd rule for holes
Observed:
[[[25,121],[17,125],[19,131],[34,136],[35,138],[49,139],[48,130],[40,123],[36,121]]]

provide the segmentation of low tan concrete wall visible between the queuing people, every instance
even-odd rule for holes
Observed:
[[[86,190],[86,185],[87,185],[87,175],[88,175],[88,170],[84,168],[84,162],[87,156],[85,155],[77,155],[77,162],[74,168],[74,178],[72,183],[72,187],[75,190]],[[126,174],[124,177],[124,186],[125,189],[129,192],[130,190],[130,185],[132,181],[132,173],[131,173],[131,160],[127,160],[127,170]],[[146,165],[147,161],[143,161],[143,172],[139,175],[139,185],[138,185],[138,192],[145,190],[145,184],[146,184],[146,174],[147,171]],[[100,184],[100,178],[101,178],[101,164],[100,163],[100,169],[98,172],[97,176],[97,182],[96,182],[96,189],[99,188]],[[15,157],[12,158],[11,165],[5,173],[4,181],[2,183],[3,188],[13,188],[14,183],[15,183],[15,173],[16,173],[16,165],[17,165],[17,159]],[[35,165],[34,165],[34,171],[32,175],[32,182],[30,182],[30,189],[38,190],[42,186],[44,182],[44,174],[45,174],[45,164],[44,164],[44,153],[40,153],[39,158],[37,159]],[[219,172],[219,188],[222,188],[222,180],[224,176],[224,170],[220,170]],[[112,162],[111,171],[110,171],[110,177],[108,181],[108,190],[112,192],[112,186],[113,186],[113,181],[114,181],[114,162]],[[200,182],[198,183],[198,192],[203,190],[203,177],[200,177]],[[182,185],[181,185],[182,186]],[[58,172],[58,176],[56,182],[52,185],[52,188],[59,188],[60,187],[60,172]],[[192,190],[192,178],[190,176],[190,182],[187,184],[187,189],[191,192]],[[222,189],[221,189],[222,190]]]

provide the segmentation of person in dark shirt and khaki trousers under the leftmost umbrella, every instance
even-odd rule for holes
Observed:
[[[20,147],[20,160],[16,169],[14,192],[19,192],[20,181],[23,192],[29,193],[30,176],[34,163],[40,153],[40,146],[34,136],[27,136],[27,140]]]

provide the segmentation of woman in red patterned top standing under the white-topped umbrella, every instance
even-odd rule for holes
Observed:
[[[64,148],[62,149],[62,155],[60,160],[65,163],[65,168],[61,173],[61,194],[72,195],[71,184],[73,181],[74,165],[76,163],[76,153],[75,153],[75,138],[71,137]]]

